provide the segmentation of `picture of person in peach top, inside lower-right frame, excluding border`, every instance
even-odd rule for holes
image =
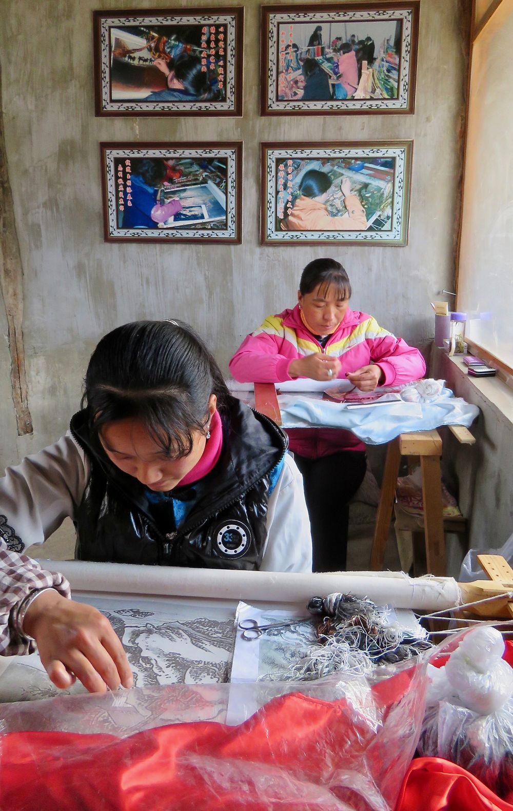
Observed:
[[[391,230],[395,158],[276,158],[276,230]]]

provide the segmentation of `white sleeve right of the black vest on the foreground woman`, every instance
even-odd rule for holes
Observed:
[[[283,470],[269,497],[263,572],[311,572],[312,539],[303,479],[296,462],[285,454]]]

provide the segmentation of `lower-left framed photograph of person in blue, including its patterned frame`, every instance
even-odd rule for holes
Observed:
[[[106,242],[242,241],[242,142],[100,152]]]

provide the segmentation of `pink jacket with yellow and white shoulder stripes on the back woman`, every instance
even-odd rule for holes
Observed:
[[[396,338],[365,312],[348,309],[324,347],[301,321],[299,306],[279,315],[268,315],[254,333],[246,336],[229,363],[240,383],[282,383],[293,380],[289,365],[307,354],[322,352],[339,358],[347,371],[377,363],[383,371],[383,385],[410,383],[425,375],[425,363],[419,350]],[[290,448],[300,456],[316,458],[343,450],[364,450],[365,446],[351,431],[340,428],[294,428],[288,431]]]

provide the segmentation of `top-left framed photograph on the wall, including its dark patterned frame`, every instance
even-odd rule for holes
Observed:
[[[242,115],[244,9],[93,11],[96,115]]]

